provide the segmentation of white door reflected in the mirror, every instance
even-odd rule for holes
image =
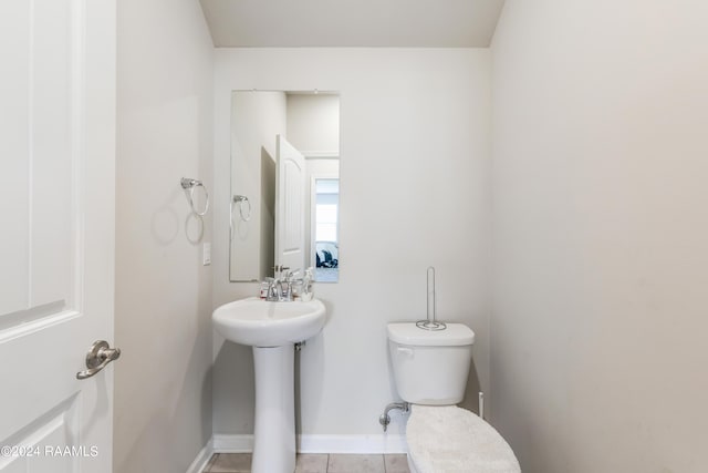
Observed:
[[[281,135],[275,140],[275,266],[304,270],[305,158]]]

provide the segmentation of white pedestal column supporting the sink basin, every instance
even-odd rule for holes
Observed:
[[[253,347],[256,419],[252,473],[295,471],[294,346]]]

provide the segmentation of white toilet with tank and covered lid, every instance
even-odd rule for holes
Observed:
[[[398,394],[410,404],[406,424],[412,473],[520,473],[502,436],[477,414],[456,407],[465,395],[475,332],[462,323],[426,330],[388,325]]]

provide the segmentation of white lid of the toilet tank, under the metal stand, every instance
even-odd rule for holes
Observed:
[[[475,342],[475,332],[464,323],[446,323],[445,330],[425,330],[416,322],[388,323],[388,339],[418,347],[460,347]]]

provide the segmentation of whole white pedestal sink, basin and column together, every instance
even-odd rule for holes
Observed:
[[[256,425],[253,473],[295,470],[294,343],[322,330],[324,305],[268,302],[257,297],[214,311],[214,327],[227,340],[253,347]]]

